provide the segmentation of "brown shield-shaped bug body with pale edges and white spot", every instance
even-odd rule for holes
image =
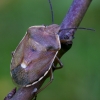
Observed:
[[[11,76],[19,86],[36,84],[50,70],[61,48],[59,26],[32,26],[13,52]]]

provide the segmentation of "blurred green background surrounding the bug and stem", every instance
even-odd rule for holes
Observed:
[[[52,0],[55,23],[60,24],[72,0]],[[53,83],[38,100],[100,100],[100,1],[93,0],[72,48],[62,57],[64,68],[54,73]],[[48,0],[0,0],[0,100],[15,84],[10,76],[11,52],[28,27],[51,24]]]

